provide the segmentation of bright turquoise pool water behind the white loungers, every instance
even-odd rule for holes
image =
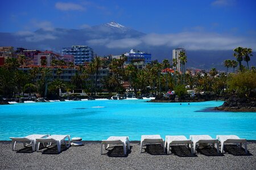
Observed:
[[[94,100],[0,105],[0,140],[28,134],[70,134],[100,141],[110,135],[236,134],[256,139],[256,113],[207,110],[223,101],[147,103],[146,100]],[[105,108],[93,108],[93,107]]]

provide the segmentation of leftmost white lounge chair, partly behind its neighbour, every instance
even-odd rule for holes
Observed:
[[[36,139],[37,138],[45,138],[45,137],[48,137],[49,135],[48,134],[32,134],[32,135],[28,135],[26,137],[23,137],[23,138],[16,138],[16,137],[10,137],[11,139],[11,150],[15,150],[15,146],[16,146],[16,142],[23,142],[23,146],[26,147],[26,146],[29,146],[31,145],[32,146],[32,150],[35,151],[35,148],[36,148]],[[29,143],[28,145],[26,145],[26,143]]]

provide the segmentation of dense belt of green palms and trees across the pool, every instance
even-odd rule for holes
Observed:
[[[161,95],[168,90],[175,90],[175,94],[182,97],[186,90],[196,90],[211,95],[226,95],[235,93],[242,96],[250,96],[255,91],[255,67],[249,70],[250,57],[252,50],[249,48],[238,47],[234,49],[235,60],[224,61],[227,68],[226,73],[218,73],[216,68],[212,68],[209,73],[197,73],[191,75],[188,73],[179,73],[176,70],[177,61],[174,59],[173,65],[170,65],[168,59],[162,63],[157,61],[151,65],[146,65],[143,69],[138,69],[136,65],[130,63],[124,65],[125,56],[119,59],[104,61],[101,57],[95,57],[87,65],[77,67],[73,74],[71,82],[65,82],[64,70],[56,67],[53,71],[49,67],[35,67],[28,72],[23,70],[24,56],[17,58],[8,58],[3,67],[0,67],[0,95],[4,97],[20,96],[24,92],[36,94],[40,97],[59,97],[59,92],[70,92],[73,90],[84,90],[88,95],[96,95],[97,92],[114,92],[123,94],[126,87],[129,91],[139,94],[152,93]],[[184,66],[187,62],[187,56],[180,53],[181,64]],[[247,68],[242,66],[245,61]],[[45,62],[43,59],[41,62]],[[47,64],[47,63],[44,63]],[[238,73],[235,69],[239,64]],[[66,65],[64,61],[52,60],[52,66]],[[68,63],[69,67],[74,67],[73,63]],[[99,77],[101,68],[109,69],[109,76],[104,79]],[[167,71],[172,69],[172,72]],[[228,69],[233,68],[233,73],[228,73]],[[103,84],[98,87],[98,81]]]

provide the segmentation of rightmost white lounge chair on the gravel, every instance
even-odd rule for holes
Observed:
[[[242,147],[242,143],[245,145],[245,153],[247,154],[247,141],[246,139],[241,139],[237,135],[217,135],[216,138],[221,144],[221,153],[224,152],[224,143],[240,143],[240,147]]]

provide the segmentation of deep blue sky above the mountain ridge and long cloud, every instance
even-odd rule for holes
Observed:
[[[145,33],[256,31],[256,1],[3,1],[0,32],[115,21]]]

